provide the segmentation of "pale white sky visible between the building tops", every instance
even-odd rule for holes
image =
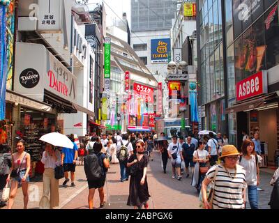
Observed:
[[[119,17],[121,17],[121,19],[122,19],[123,13],[127,14],[127,19],[128,19],[129,25],[130,25],[130,0],[103,0],[103,1],[104,1],[104,5],[105,5],[105,10],[107,13],[107,25],[112,25],[112,22],[115,19],[119,20],[117,15]],[[88,6],[90,9],[93,9],[96,6],[95,3],[102,3],[103,1],[102,0],[89,0]],[[113,11],[110,10],[109,6],[110,6],[110,8],[112,8]]]

